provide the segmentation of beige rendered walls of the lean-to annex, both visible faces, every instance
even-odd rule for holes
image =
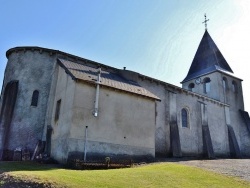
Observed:
[[[75,82],[59,67],[55,91],[51,155],[65,163],[69,156],[83,158],[87,128],[87,160],[153,158],[155,156],[155,101],[100,87],[99,113],[93,116],[95,85]],[[61,99],[58,121],[54,121]]]

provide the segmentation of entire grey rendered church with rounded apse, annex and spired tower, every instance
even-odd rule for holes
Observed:
[[[15,47],[6,56],[0,160],[16,160],[17,150],[60,163],[250,156],[242,79],[207,30],[182,88],[58,50]]]

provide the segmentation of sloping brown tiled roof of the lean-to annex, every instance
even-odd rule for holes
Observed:
[[[79,79],[82,81],[96,84],[98,68],[83,65],[81,63],[76,63],[65,59],[58,59],[58,62],[65,69],[65,71],[70,74],[74,79]],[[141,87],[138,83],[127,80],[120,76],[118,73],[102,70],[100,85],[160,100],[159,97],[157,97],[147,89]]]

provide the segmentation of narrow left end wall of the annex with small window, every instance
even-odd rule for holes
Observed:
[[[52,106],[52,126],[51,156],[56,160],[65,163],[67,160],[70,129],[73,117],[73,102],[75,81],[65,73],[65,70],[57,66],[58,73],[55,89],[55,96]],[[59,119],[55,119],[57,101],[61,100]]]

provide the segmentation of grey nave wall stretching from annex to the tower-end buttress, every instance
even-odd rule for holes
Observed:
[[[172,112],[171,114],[176,114],[177,116],[183,156],[201,156],[203,154],[201,102],[205,103],[207,107],[206,115],[208,116],[208,126],[215,155],[229,155],[229,140],[224,105],[206,100],[206,95],[204,97],[197,96],[192,94],[192,92],[184,91],[178,87],[171,87],[171,85],[164,86],[163,84],[147,79],[139,79],[139,84],[156,94],[162,100],[161,102],[157,102],[156,107],[156,154],[171,155],[169,122],[170,111],[174,109],[170,106],[173,101],[169,101],[171,100],[169,92],[174,92],[176,93],[176,112]],[[214,87],[211,86],[212,88]],[[189,112],[188,128],[182,127],[181,110],[183,108]],[[159,134],[159,132],[162,134]]]

